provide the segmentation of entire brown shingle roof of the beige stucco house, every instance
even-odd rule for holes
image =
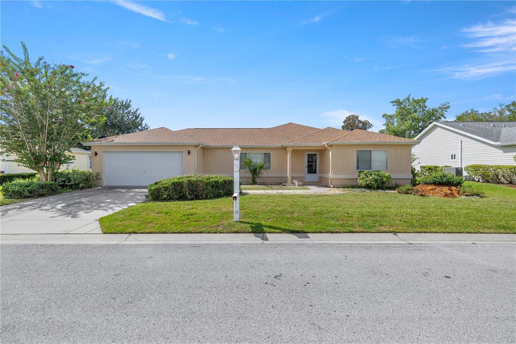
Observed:
[[[272,128],[189,128],[177,131],[161,127],[131,134],[105,137],[86,145],[109,144],[201,144],[203,146],[281,147],[289,145],[324,145],[328,142],[397,142],[416,143],[409,138],[373,133],[366,130],[345,131],[286,123]]]

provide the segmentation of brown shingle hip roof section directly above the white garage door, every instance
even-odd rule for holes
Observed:
[[[137,143],[137,142],[172,142],[172,143],[196,143],[195,140],[186,137],[176,131],[172,131],[165,127],[138,131],[136,133],[123,134],[118,136],[110,136],[95,140],[95,142],[113,142],[113,143]]]

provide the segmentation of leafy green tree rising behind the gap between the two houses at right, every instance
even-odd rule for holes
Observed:
[[[442,103],[437,107],[428,107],[428,98],[413,98],[410,95],[404,99],[395,99],[391,104],[396,107],[394,114],[383,114],[385,119],[384,129],[379,132],[383,134],[400,137],[413,138],[421,133],[434,121],[446,118],[449,102]]]

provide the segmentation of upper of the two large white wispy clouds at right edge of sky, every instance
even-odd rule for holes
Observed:
[[[464,44],[467,48],[478,48],[485,53],[516,51],[516,20],[478,24],[463,28],[462,32],[473,39]]]

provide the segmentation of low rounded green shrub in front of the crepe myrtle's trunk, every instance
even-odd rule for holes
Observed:
[[[16,179],[2,185],[2,193],[6,198],[34,198],[56,195],[61,188],[56,182]]]

